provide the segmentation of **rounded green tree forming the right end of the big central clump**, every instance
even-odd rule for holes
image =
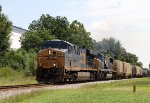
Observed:
[[[84,25],[77,20],[70,24],[69,42],[76,44],[81,48],[93,49],[94,41],[90,35],[90,32],[86,31]]]

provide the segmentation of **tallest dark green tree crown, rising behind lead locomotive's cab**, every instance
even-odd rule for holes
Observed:
[[[56,18],[46,14],[42,15],[39,20],[34,20],[29,25],[29,30],[47,30],[50,35],[58,39],[66,40],[69,33],[69,22],[66,17],[56,16]]]

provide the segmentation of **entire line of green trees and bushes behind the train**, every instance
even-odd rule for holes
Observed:
[[[12,22],[2,13],[0,6],[0,67],[9,66],[16,70],[24,70],[28,75],[34,75],[36,69],[36,53],[46,40],[61,39],[77,45],[80,48],[97,50],[114,59],[142,66],[135,54],[126,52],[121,42],[114,38],[106,38],[96,42],[77,20],[68,21],[66,17],[52,17],[43,14],[38,20],[33,20],[28,31],[21,38],[21,48],[10,49]]]

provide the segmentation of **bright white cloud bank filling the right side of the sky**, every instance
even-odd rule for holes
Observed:
[[[135,53],[148,67],[150,62],[150,1],[89,0],[82,8],[84,17],[97,17],[87,26],[97,41],[107,37],[119,39],[127,51]]]

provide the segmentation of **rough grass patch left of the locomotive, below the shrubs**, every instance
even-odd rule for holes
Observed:
[[[0,86],[37,83],[35,77],[27,77],[23,72],[11,68],[0,68]]]

